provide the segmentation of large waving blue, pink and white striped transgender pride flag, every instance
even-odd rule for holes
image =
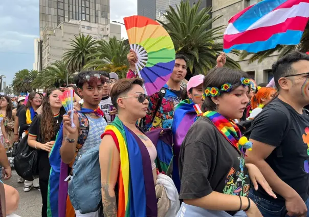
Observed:
[[[229,20],[224,51],[258,52],[298,44],[309,18],[309,0],[264,0]]]

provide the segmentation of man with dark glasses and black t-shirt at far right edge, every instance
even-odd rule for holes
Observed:
[[[252,123],[246,163],[255,164],[277,199],[262,189],[249,197],[264,217],[309,216],[309,56],[293,51],[272,66],[279,95]],[[286,215],[287,214],[287,215]]]

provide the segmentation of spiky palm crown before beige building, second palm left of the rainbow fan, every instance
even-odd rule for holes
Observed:
[[[75,73],[80,71],[86,62],[92,57],[90,54],[96,52],[97,41],[93,39],[92,36],[78,35],[70,43],[71,48],[69,48],[63,54],[63,60],[67,62],[68,70],[70,73]]]

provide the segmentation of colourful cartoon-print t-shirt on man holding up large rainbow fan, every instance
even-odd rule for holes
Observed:
[[[156,107],[159,101],[159,92],[149,96],[149,111],[146,114],[146,125],[148,131],[158,128],[171,128],[174,118],[174,110],[180,102],[181,91],[175,91],[170,89],[167,85],[163,86],[166,88],[166,93],[162,99],[162,103],[156,114]],[[153,122],[151,120],[154,117]]]

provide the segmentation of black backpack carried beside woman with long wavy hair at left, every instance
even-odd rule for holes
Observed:
[[[40,125],[40,115],[36,115],[38,124]],[[38,128],[38,136],[36,141],[40,141],[40,127]],[[16,173],[23,179],[32,181],[38,177],[38,153],[35,148],[28,145],[28,133],[20,140],[16,148],[14,157],[14,169]]]

